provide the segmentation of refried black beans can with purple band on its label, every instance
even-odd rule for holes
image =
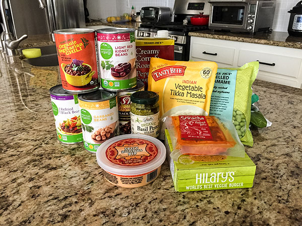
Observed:
[[[64,144],[83,141],[77,94],[66,92],[62,85],[49,89],[58,140]]]

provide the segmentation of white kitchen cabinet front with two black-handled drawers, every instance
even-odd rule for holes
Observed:
[[[218,67],[258,60],[257,79],[302,88],[302,49],[191,37],[190,59],[215,61]]]

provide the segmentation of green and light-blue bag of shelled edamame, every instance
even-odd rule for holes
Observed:
[[[259,62],[239,68],[218,68],[211,95],[210,116],[233,121],[244,145],[253,146],[249,130],[251,119],[252,84],[259,70]]]

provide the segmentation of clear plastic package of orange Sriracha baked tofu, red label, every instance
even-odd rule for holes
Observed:
[[[168,116],[164,120],[171,136],[171,158],[181,155],[244,157],[244,146],[231,121],[214,116]]]

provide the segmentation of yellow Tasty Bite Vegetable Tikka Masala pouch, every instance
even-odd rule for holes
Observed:
[[[160,117],[209,114],[215,62],[151,58],[148,90],[160,96]]]

